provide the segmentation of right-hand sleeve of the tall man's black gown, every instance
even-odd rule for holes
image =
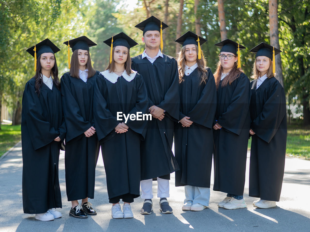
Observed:
[[[180,96],[179,96],[179,72],[178,65],[174,58],[170,63],[172,76],[165,77],[171,79],[170,87],[168,88],[164,100],[159,103],[157,106],[165,110],[171,117],[179,121],[179,112],[180,112]]]

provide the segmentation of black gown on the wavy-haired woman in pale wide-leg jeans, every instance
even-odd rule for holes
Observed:
[[[175,186],[191,185],[210,188],[213,133],[212,123],[216,110],[214,76],[207,68],[206,84],[200,83],[198,69],[184,75],[179,85],[180,117],[190,117],[190,127],[175,127],[175,158],[179,171],[175,172]]]

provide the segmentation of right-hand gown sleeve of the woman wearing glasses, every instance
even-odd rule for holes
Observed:
[[[231,103],[226,112],[219,116],[217,123],[225,130],[237,135],[240,134],[244,121],[249,113],[250,105],[250,80],[245,74],[238,77],[237,86],[232,94]],[[227,84],[229,87],[229,84]]]

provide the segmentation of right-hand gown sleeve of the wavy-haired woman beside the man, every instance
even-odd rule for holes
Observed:
[[[216,85],[210,69],[208,69],[208,81],[203,88],[200,99],[194,108],[188,112],[189,120],[201,126],[212,128],[216,110]]]

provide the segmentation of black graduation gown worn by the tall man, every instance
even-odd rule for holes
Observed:
[[[172,153],[174,123],[179,121],[179,73],[174,58],[163,54],[153,64],[142,54],[132,58],[131,68],[142,75],[148,91],[148,107],[165,110],[162,121],[152,118],[141,143],[141,180],[170,179],[179,169]]]

